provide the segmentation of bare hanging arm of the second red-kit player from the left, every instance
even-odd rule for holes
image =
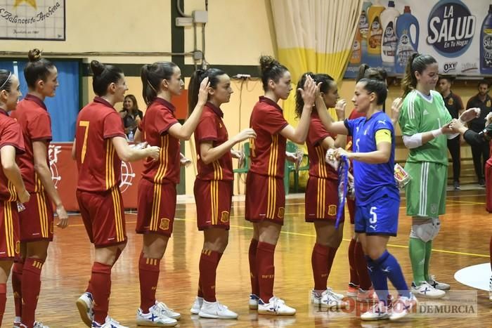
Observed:
[[[58,195],[53,180],[51,179],[51,170],[48,167],[48,144],[44,141],[34,141],[32,143],[32,152],[34,154],[34,171],[36,171],[44,190],[48,193],[51,202],[55,203],[56,214],[60,219],[57,226],[66,228],[68,225],[68,214]]]

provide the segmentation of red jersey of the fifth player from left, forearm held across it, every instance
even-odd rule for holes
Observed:
[[[195,129],[195,147],[198,154],[198,179],[233,181],[233,157],[226,152],[222,157],[210,164],[204,164],[200,159],[200,143],[212,141],[212,147],[217,147],[228,140],[228,133],[222,121],[224,113],[219,107],[207,103],[203,108],[202,117]]]

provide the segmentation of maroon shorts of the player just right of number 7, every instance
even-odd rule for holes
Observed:
[[[157,233],[171,237],[176,214],[176,184],[138,183],[136,233]]]

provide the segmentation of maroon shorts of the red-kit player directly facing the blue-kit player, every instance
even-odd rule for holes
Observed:
[[[337,219],[338,181],[309,176],[306,185],[306,222]],[[345,216],[342,215],[341,222]]]

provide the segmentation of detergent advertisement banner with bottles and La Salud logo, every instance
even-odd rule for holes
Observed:
[[[436,58],[441,74],[492,75],[492,1],[365,1],[344,77],[363,63],[402,76],[415,52]]]

